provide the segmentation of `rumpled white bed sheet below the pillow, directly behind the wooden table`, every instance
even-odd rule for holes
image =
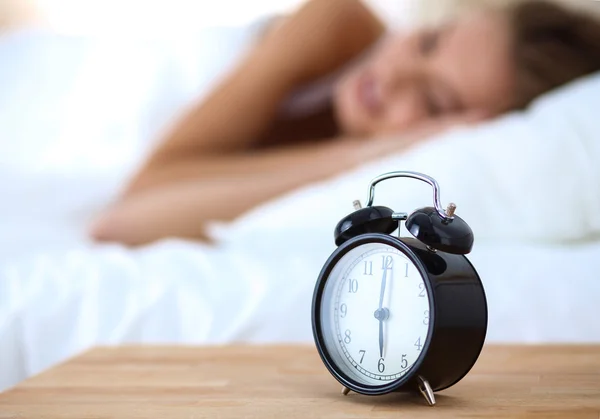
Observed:
[[[98,344],[312,342],[313,287],[334,246],[301,230],[221,248],[81,244],[5,262],[0,387]],[[488,342],[600,343],[590,269],[600,243],[478,243],[470,260],[488,296]]]

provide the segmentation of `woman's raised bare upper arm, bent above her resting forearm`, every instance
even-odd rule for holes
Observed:
[[[296,86],[326,75],[371,45],[381,22],[359,0],[310,0],[270,31],[235,71],[173,127],[131,182],[150,186],[164,166],[252,147]]]

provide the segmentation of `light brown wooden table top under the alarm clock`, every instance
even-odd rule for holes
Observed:
[[[0,418],[600,418],[600,347],[489,346],[437,393],[340,394],[312,347],[98,348],[0,394]]]

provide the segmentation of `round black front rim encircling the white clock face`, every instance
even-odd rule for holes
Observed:
[[[325,284],[327,283],[329,275],[335,268],[336,264],[340,261],[340,259],[344,257],[348,252],[350,252],[354,248],[368,243],[382,243],[392,246],[400,250],[406,257],[408,257],[409,260],[418,269],[419,273],[421,274],[421,277],[423,278],[423,283],[425,284],[425,287],[427,289],[427,297],[429,300],[429,328],[427,330],[427,337],[425,339],[425,343],[423,344],[421,354],[414,362],[410,371],[406,373],[406,375],[395,381],[381,386],[363,384],[356,380],[353,380],[352,378],[344,374],[342,368],[337,366],[332,356],[329,354],[329,350],[325,345],[325,339],[323,337],[321,329],[321,301],[323,297],[323,291],[325,290]],[[421,365],[427,357],[429,346],[436,330],[436,314],[437,313],[434,302],[434,293],[431,285],[431,280],[429,278],[429,273],[427,272],[427,269],[425,268],[421,260],[410,249],[410,247],[404,242],[402,242],[400,238],[396,238],[394,236],[381,233],[362,234],[340,245],[327,259],[327,261],[323,265],[323,268],[321,269],[321,272],[319,273],[313,292],[313,301],[311,309],[313,339],[315,345],[317,346],[317,352],[319,353],[319,356],[321,357],[323,363],[340,384],[360,394],[373,396],[388,394],[398,390],[402,386],[405,386],[408,382],[410,382],[416,377]]]

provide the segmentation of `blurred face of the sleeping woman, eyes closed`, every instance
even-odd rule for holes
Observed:
[[[441,116],[511,108],[508,23],[500,13],[383,40],[336,85],[338,122],[350,135],[403,131]]]

